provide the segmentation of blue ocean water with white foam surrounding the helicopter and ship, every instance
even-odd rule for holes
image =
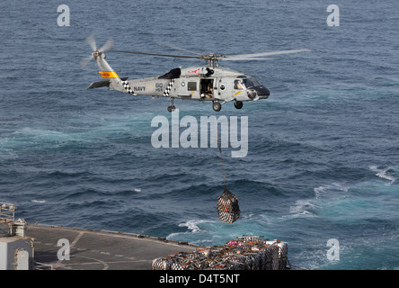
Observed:
[[[242,235],[288,242],[292,265],[399,268],[399,3],[335,1],[0,2],[0,201],[28,222],[221,245]],[[248,117],[248,154],[223,148],[241,218],[217,219],[224,182],[217,148],[154,148],[164,98],[86,90],[101,80],[84,40],[114,49],[226,55],[312,52],[220,62],[260,77],[268,100],[226,104]],[[159,76],[197,60],[107,53],[120,76]],[[214,114],[175,101],[180,116]],[[329,257],[329,239],[339,258]],[[329,252],[330,251],[330,252]],[[331,256],[331,255],[330,255]]]

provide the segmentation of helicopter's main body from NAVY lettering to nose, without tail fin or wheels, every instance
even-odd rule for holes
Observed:
[[[226,67],[175,68],[163,76],[127,82],[135,94],[199,101],[256,101],[270,94],[252,76]]]

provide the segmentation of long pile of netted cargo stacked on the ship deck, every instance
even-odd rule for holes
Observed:
[[[224,246],[156,258],[152,270],[285,270],[287,259],[286,242],[243,237]]]

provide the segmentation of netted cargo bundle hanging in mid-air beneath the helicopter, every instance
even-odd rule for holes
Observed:
[[[240,218],[238,199],[235,194],[228,191],[227,187],[217,198],[217,213],[219,215],[219,220],[227,223],[234,223]]]

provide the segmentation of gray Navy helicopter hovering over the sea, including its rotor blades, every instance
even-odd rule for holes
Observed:
[[[104,80],[93,82],[87,89],[108,87],[109,90],[117,90],[122,93],[132,95],[150,95],[156,97],[168,97],[168,112],[175,110],[174,99],[209,101],[212,102],[212,108],[215,112],[221,110],[222,105],[234,102],[236,109],[243,108],[243,103],[247,101],[258,101],[267,99],[270,91],[264,85],[261,85],[253,76],[235,71],[228,67],[221,67],[218,61],[223,60],[268,60],[264,58],[280,54],[290,54],[297,52],[310,51],[309,49],[290,49],[273,52],[240,54],[240,55],[222,55],[222,54],[199,54],[187,49],[181,49],[192,55],[172,55],[162,53],[148,53],[127,50],[114,50],[113,40],[109,39],[102,48],[98,49],[93,35],[90,35],[86,42],[93,49],[89,58],[81,61],[81,66],[85,67],[87,63],[94,59],[100,71],[98,72]],[[163,43],[173,49],[172,45]],[[129,77],[120,77],[105,60],[104,51],[152,55],[159,57],[173,58],[197,58],[206,61],[206,65],[193,67],[176,67],[161,76],[152,76],[135,80],[128,80]]]

